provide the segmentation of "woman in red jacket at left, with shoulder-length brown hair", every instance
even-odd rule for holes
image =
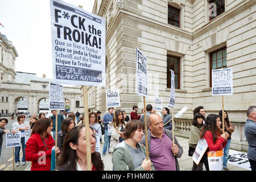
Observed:
[[[26,144],[26,161],[31,161],[31,171],[50,171],[51,153],[55,141],[49,134],[52,130],[53,121],[49,118],[40,118],[35,123],[31,137]],[[60,150],[56,147],[56,154]]]

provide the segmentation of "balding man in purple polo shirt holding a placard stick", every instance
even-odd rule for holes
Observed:
[[[177,158],[183,154],[183,148],[175,137],[172,138],[172,131],[164,129],[163,119],[158,114],[148,116],[148,127],[148,154],[155,170],[179,171]],[[143,135],[141,144],[146,146],[146,135]]]

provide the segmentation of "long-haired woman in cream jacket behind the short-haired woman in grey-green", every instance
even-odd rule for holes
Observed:
[[[113,152],[117,144],[124,140],[122,137],[125,125],[126,121],[123,117],[122,111],[115,110],[115,119],[113,118],[113,121],[110,125],[112,135],[110,138],[109,152]]]

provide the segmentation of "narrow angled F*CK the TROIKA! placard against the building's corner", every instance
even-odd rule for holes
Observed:
[[[147,90],[147,57],[136,47],[137,95],[146,97]]]

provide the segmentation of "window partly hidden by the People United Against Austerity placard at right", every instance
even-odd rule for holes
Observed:
[[[226,47],[210,53],[210,87],[212,87],[212,69],[227,68]]]

